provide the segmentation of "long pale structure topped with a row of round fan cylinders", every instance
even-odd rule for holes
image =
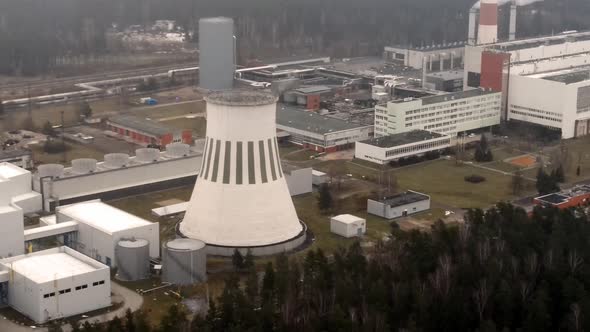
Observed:
[[[138,149],[136,155],[109,154],[105,160],[77,159],[72,167],[41,165],[33,179],[43,209],[101,198],[115,199],[194,183],[202,145],[173,143],[166,151]]]

